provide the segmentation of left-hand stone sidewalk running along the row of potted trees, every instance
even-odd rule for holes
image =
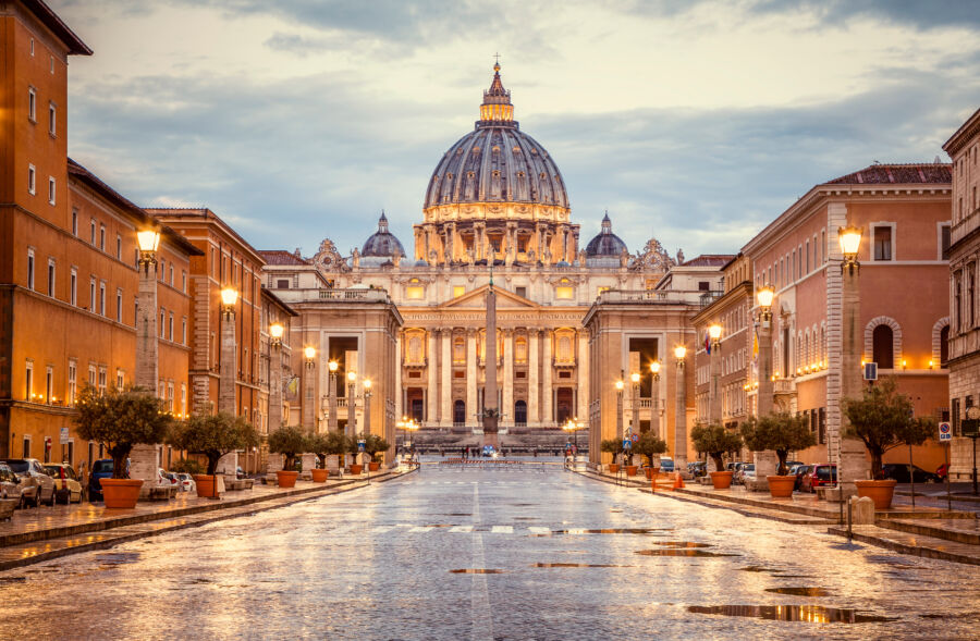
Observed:
[[[379,472],[370,480],[384,482],[411,471]],[[0,523],[0,571],[366,486],[367,477],[362,476],[331,478],[326,483],[297,481],[286,490],[255,485],[219,500],[181,493],[170,501],[140,502],[134,509],[106,509],[89,503],[19,509],[10,521]]]

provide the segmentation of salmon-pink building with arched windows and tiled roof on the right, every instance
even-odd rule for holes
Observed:
[[[743,247],[755,289],[775,288],[774,406],[805,415],[818,437],[801,460],[834,460],[837,452],[846,347],[838,227],[863,232],[856,349],[880,377],[897,377],[917,416],[948,416],[950,204],[948,164],[874,164],[814,186]],[[893,451],[886,460],[907,457]],[[927,470],[942,460],[933,441],[915,454]]]

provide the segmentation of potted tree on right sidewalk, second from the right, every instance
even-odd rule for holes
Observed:
[[[817,444],[817,437],[810,431],[806,418],[788,412],[772,414],[760,418],[752,417],[742,423],[742,437],[752,452],[773,451],[779,459],[775,474],[769,474],[769,493],[773,498],[793,496],[796,477],[788,476],[786,458],[791,452],[806,449]]]

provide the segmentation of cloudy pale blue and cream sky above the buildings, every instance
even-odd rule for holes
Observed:
[[[734,254],[813,185],[947,162],[980,107],[976,0],[49,0],[69,152],[147,207],[209,207],[257,249],[412,225],[493,54],[584,245]]]

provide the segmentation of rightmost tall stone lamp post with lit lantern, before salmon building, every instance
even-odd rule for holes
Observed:
[[[857,398],[861,392],[861,345],[862,329],[860,328],[861,299],[859,275],[861,264],[857,255],[861,247],[861,227],[847,225],[837,230],[837,239],[841,243],[841,254],[844,260],[841,262],[842,295],[841,307],[843,313],[842,331],[844,334],[843,358],[841,362],[841,397]],[[840,410],[838,410],[840,411]],[[845,497],[857,493],[854,481],[861,478],[865,468],[865,451],[861,443],[855,439],[845,442],[844,431],[848,426],[847,417],[841,412],[840,428],[836,437],[836,464],[837,486],[841,488],[841,518]]]

